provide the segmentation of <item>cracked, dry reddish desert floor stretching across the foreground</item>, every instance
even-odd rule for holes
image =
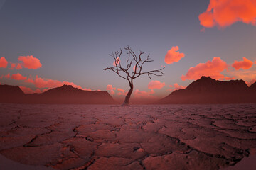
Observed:
[[[0,104],[0,154],[49,169],[223,169],[256,154],[256,105]]]

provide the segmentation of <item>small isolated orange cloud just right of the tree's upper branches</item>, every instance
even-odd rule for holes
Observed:
[[[178,62],[181,58],[185,57],[183,53],[178,52],[178,46],[171,47],[164,58],[166,64],[172,64],[173,62]]]

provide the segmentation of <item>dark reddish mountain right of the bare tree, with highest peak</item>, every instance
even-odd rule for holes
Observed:
[[[250,88],[243,80],[218,81],[201,77],[186,89],[172,92],[160,104],[255,103],[256,84]]]

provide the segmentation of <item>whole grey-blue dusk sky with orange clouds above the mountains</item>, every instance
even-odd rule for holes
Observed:
[[[129,45],[162,77],[134,80],[133,98],[162,98],[201,76],[256,80],[256,0],[0,0],[0,84],[41,93],[70,84],[129,91],[109,56]],[[122,55],[125,62],[127,55]]]

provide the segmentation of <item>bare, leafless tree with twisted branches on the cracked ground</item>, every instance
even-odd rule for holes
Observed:
[[[123,79],[126,79],[127,81],[129,81],[129,91],[127,93],[127,95],[125,96],[124,99],[124,103],[122,103],[122,106],[129,106],[129,99],[131,98],[132,95],[132,91],[134,89],[134,84],[133,84],[133,80],[140,77],[141,75],[147,75],[149,77],[149,79],[151,79],[151,75],[154,76],[162,76],[164,73],[161,72],[162,69],[155,69],[155,70],[151,70],[149,72],[142,72],[142,67],[144,66],[144,64],[146,62],[153,62],[153,60],[151,60],[149,58],[149,55],[147,55],[145,60],[142,60],[142,55],[144,54],[144,52],[139,52],[139,55],[136,55],[131,47],[127,46],[124,47],[124,50],[127,51],[127,61],[124,67],[122,67],[122,64],[120,62],[120,57],[122,55],[122,49],[120,49],[120,51],[117,52],[112,52],[112,55],[110,55],[111,57],[114,58],[114,66],[113,67],[107,67],[103,70],[109,70],[112,72],[115,72],[119,77],[122,77]],[[133,62],[135,62],[134,67],[132,68],[131,72],[131,67],[133,65]]]

